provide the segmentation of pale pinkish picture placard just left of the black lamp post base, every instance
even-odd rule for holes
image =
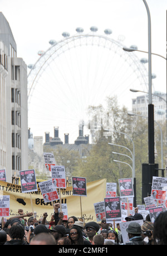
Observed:
[[[119,189],[120,189],[120,197],[134,196],[132,178],[120,178]]]

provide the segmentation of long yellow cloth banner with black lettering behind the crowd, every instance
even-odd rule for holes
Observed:
[[[85,223],[96,221],[94,203],[104,201],[106,195],[106,179],[88,182],[87,196],[73,196],[72,187],[61,189],[61,203],[67,204],[68,218],[70,216],[82,217]],[[57,190],[57,192],[59,192]],[[22,193],[21,186],[13,183],[0,181],[0,195],[10,196],[10,217],[18,215],[18,209],[23,209],[24,214],[36,211],[37,219],[47,212],[47,220],[50,221],[54,213],[52,202],[45,203],[40,188],[31,193]],[[55,202],[55,201],[54,201]],[[57,200],[56,202],[59,202]]]

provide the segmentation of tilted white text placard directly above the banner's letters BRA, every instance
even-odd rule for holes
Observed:
[[[59,198],[56,188],[53,187],[52,180],[39,182],[38,185],[45,202],[55,201]]]

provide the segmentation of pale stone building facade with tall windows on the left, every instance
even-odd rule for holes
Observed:
[[[0,169],[7,181],[28,168],[27,65],[0,12]]]

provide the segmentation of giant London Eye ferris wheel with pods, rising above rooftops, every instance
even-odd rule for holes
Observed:
[[[117,96],[118,103],[131,108],[130,88],[148,91],[148,70],[133,52],[122,50],[123,37],[112,38],[97,27],[89,33],[76,28],[70,36],[63,32],[60,41],[51,40],[39,59],[29,65],[28,127],[33,135],[59,128],[59,137],[69,133],[73,143],[81,120],[87,124],[87,108],[105,105],[107,96]],[[89,129],[85,125],[85,134]]]

